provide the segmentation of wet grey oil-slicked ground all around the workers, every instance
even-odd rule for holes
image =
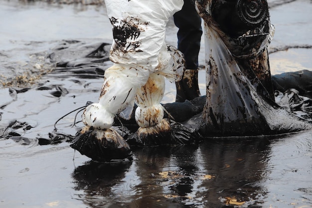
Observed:
[[[276,26],[272,73],[312,70],[311,1],[269,5]],[[53,125],[98,99],[103,71],[112,63],[95,64],[91,60],[100,57],[85,55],[111,42],[105,6],[0,0],[0,19],[5,28],[0,33],[0,207],[312,207],[312,131],[134,149],[133,161],[116,164],[75,153],[68,141],[82,125],[71,127],[75,113],[60,120],[57,131]],[[167,42],[175,45],[172,21],[167,28]],[[205,94],[204,70],[200,73]],[[163,103],[174,97],[174,84],[166,82]]]

